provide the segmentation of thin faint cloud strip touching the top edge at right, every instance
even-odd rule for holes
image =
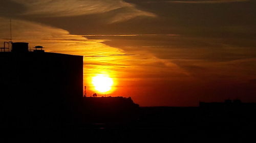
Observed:
[[[249,0],[168,1],[168,3],[218,4],[218,3],[234,3],[234,2],[247,2],[247,1]]]

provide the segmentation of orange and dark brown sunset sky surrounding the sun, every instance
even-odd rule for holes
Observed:
[[[256,102],[256,1],[1,0],[0,42],[84,56],[140,106]],[[2,44],[0,46],[3,46]]]

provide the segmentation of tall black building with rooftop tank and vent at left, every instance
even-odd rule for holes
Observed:
[[[13,43],[10,52],[0,52],[0,110],[8,121],[53,120],[74,111],[82,98],[83,56],[42,48]]]

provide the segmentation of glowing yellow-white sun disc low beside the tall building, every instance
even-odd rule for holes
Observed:
[[[97,76],[93,77],[92,83],[96,91],[100,93],[104,93],[111,90],[111,87],[113,85],[113,80],[112,78],[104,74],[98,74]]]

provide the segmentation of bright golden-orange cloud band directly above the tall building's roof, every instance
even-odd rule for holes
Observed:
[[[0,42],[9,41],[9,20],[0,17]],[[110,54],[125,54],[117,48],[103,44],[107,40],[90,40],[80,35],[40,23],[12,20],[13,42],[28,42],[30,47],[42,45],[46,51],[108,58]],[[111,60],[111,58],[109,58]]]

